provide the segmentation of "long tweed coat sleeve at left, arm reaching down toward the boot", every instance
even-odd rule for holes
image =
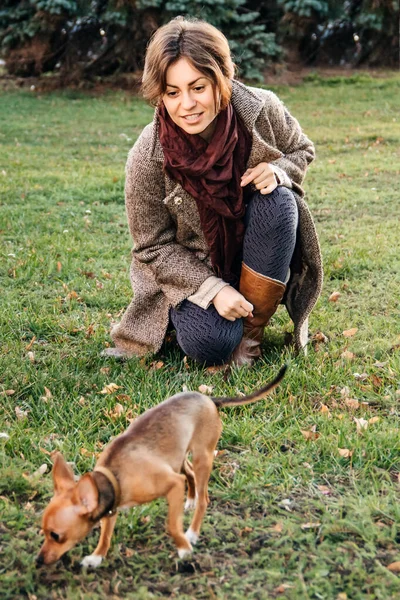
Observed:
[[[125,205],[138,268],[149,268],[172,306],[195,293],[213,275],[195,253],[176,242],[165,198],[162,163],[149,152],[149,132],[140,136],[126,164]],[[146,267],[147,266],[147,267]]]

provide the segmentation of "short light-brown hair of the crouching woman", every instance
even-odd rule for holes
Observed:
[[[167,70],[180,58],[211,79],[219,92],[217,109],[226,108],[235,74],[228,40],[213,25],[198,19],[176,17],[154,33],[146,52],[143,96],[157,104],[167,88]]]

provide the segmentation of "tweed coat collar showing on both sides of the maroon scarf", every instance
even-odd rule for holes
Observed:
[[[265,105],[265,100],[261,99],[250,88],[236,79],[232,80],[232,106],[236,113],[242,119],[249,131],[253,131],[258,115]],[[154,111],[153,131],[151,142],[151,156],[154,160],[164,161],[164,152],[160,143],[158,134],[159,119],[158,108]]]

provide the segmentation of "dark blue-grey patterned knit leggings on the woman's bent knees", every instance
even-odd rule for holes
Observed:
[[[292,192],[277,187],[256,192],[247,205],[243,261],[257,273],[284,282],[296,243],[298,211]],[[228,321],[211,304],[207,310],[189,300],[171,309],[170,318],[182,350],[202,364],[223,364],[243,335],[243,321]]]

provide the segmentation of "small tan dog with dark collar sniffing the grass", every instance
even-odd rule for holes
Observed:
[[[97,548],[83,566],[97,567],[106,556],[118,507],[128,508],[165,496],[168,530],[180,558],[192,551],[208,504],[208,479],[215,447],[222,431],[217,407],[238,406],[261,400],[278,385],[286,371],[250,396],[210,398],[198,392],[183,392],[147,410],[101,453],[92,473],[78,482],[60,453],[53,466],[54,496],[43,514],[44,544],[38,566],[57,561],[82,540],[100,521]],[[193,467],[187,460],[191,452]],[[182,507],[195,507],[186,534]]]

